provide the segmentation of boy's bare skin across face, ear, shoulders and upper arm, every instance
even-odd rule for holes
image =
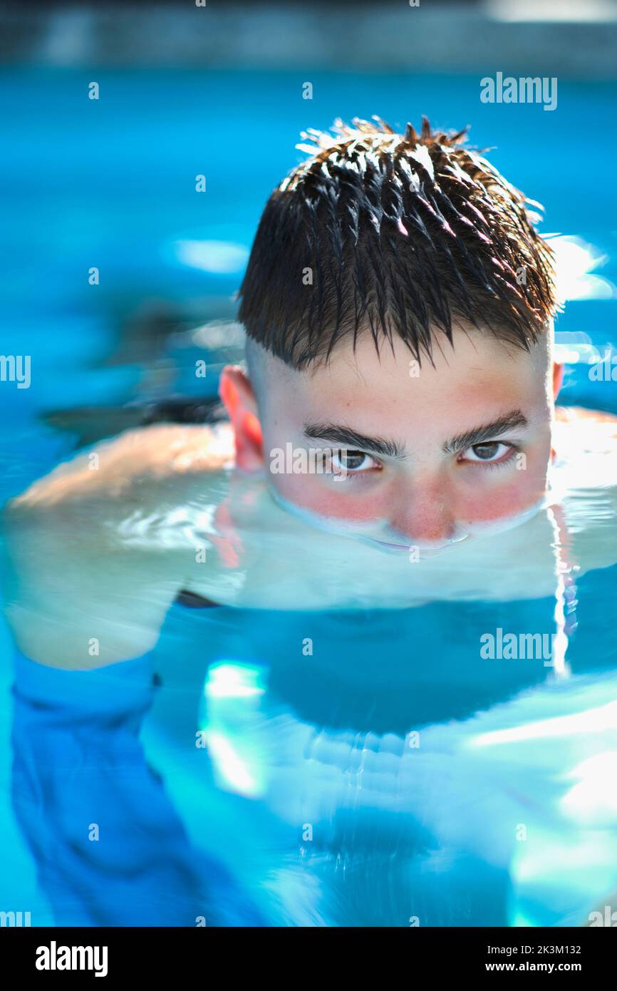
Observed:
[[[460,334],[417,378],[407,352],[379,360],[369,341],[356,354],[342,346],[314,373],[280,364],[267,360],[256,389],[241,369],[226,370],[229,425],[127,432],[9,504],[7,614],[28,656],[67,668],[140,656],[182,589],[234,606],[403,608],[551,595],[556,542],[581,571],[617,559],[606,522],[617,420],[556,417],[561,375],[548,344],[527,355]],[[449,446],[513,412],[518,420],[479,447]],[[394,441],[396,455],[338,441],[358,478],[272,474],[271,452],[286,443],[333,446],[307,436],[307,423]],[[559,491],[560,479],[571,484],[568,464],[578,488],[596,472],[574,500]],[[550,474],[558,488],[534,512]],[[597,524],[591,513],[581,529],[584,497]]]

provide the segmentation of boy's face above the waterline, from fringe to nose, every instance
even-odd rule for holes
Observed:
[[[546,492],[557,387],[549,340],[526,353],[459,330],[454,350],[444,340],[435,367],[420,370],[399,339],[378,356],[369,334],[355,353],[344,341],[328,365],[304,372],[258,349],[270,485],[309,518],[405,550],[503,524]],[[238,438],[242,418],[232,419]],[[335,452],[325,463],[315,458],[324,449]],[[277,453],[289,450],[293,460]]]

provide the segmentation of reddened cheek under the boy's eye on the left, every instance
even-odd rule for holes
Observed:
[[[291,474],[271,475],[270,480],[276,492],[294,505],[333,519],[365,523],[387,512],[385,495],[360,492],[360,482],[325,482],[319,475]]]

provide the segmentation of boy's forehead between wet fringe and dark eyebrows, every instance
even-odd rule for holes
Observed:
[[[294,418],[318,416],[322,422],[352,425],[353,417],[359,430],[385,419],[393,425],[411,418],[416,426],[443,420],[466,423],[479,412],[499,414],[523,406],[532,411],[546,405],[548,336],[528,353],[487,334],[460,330],[454,347],[445,337],[441,348],[434,347],[433,362],[424,360],[418,367],[398,338],[392,347],[382,341],[377,354],[370,335],[364,334],[356,349],[352,342],[339,345],[328,364],[303,372],[285,368],[278,379],[279,399]]]

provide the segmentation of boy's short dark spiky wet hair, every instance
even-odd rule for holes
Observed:
[[[558,308],[539,204],[464,147],[466,128],[353,125],[304,132],[311,157],[267,201],[240,292],[249,337],[296,369],[362,332],[421,364],[462,318],[529,349]]]

